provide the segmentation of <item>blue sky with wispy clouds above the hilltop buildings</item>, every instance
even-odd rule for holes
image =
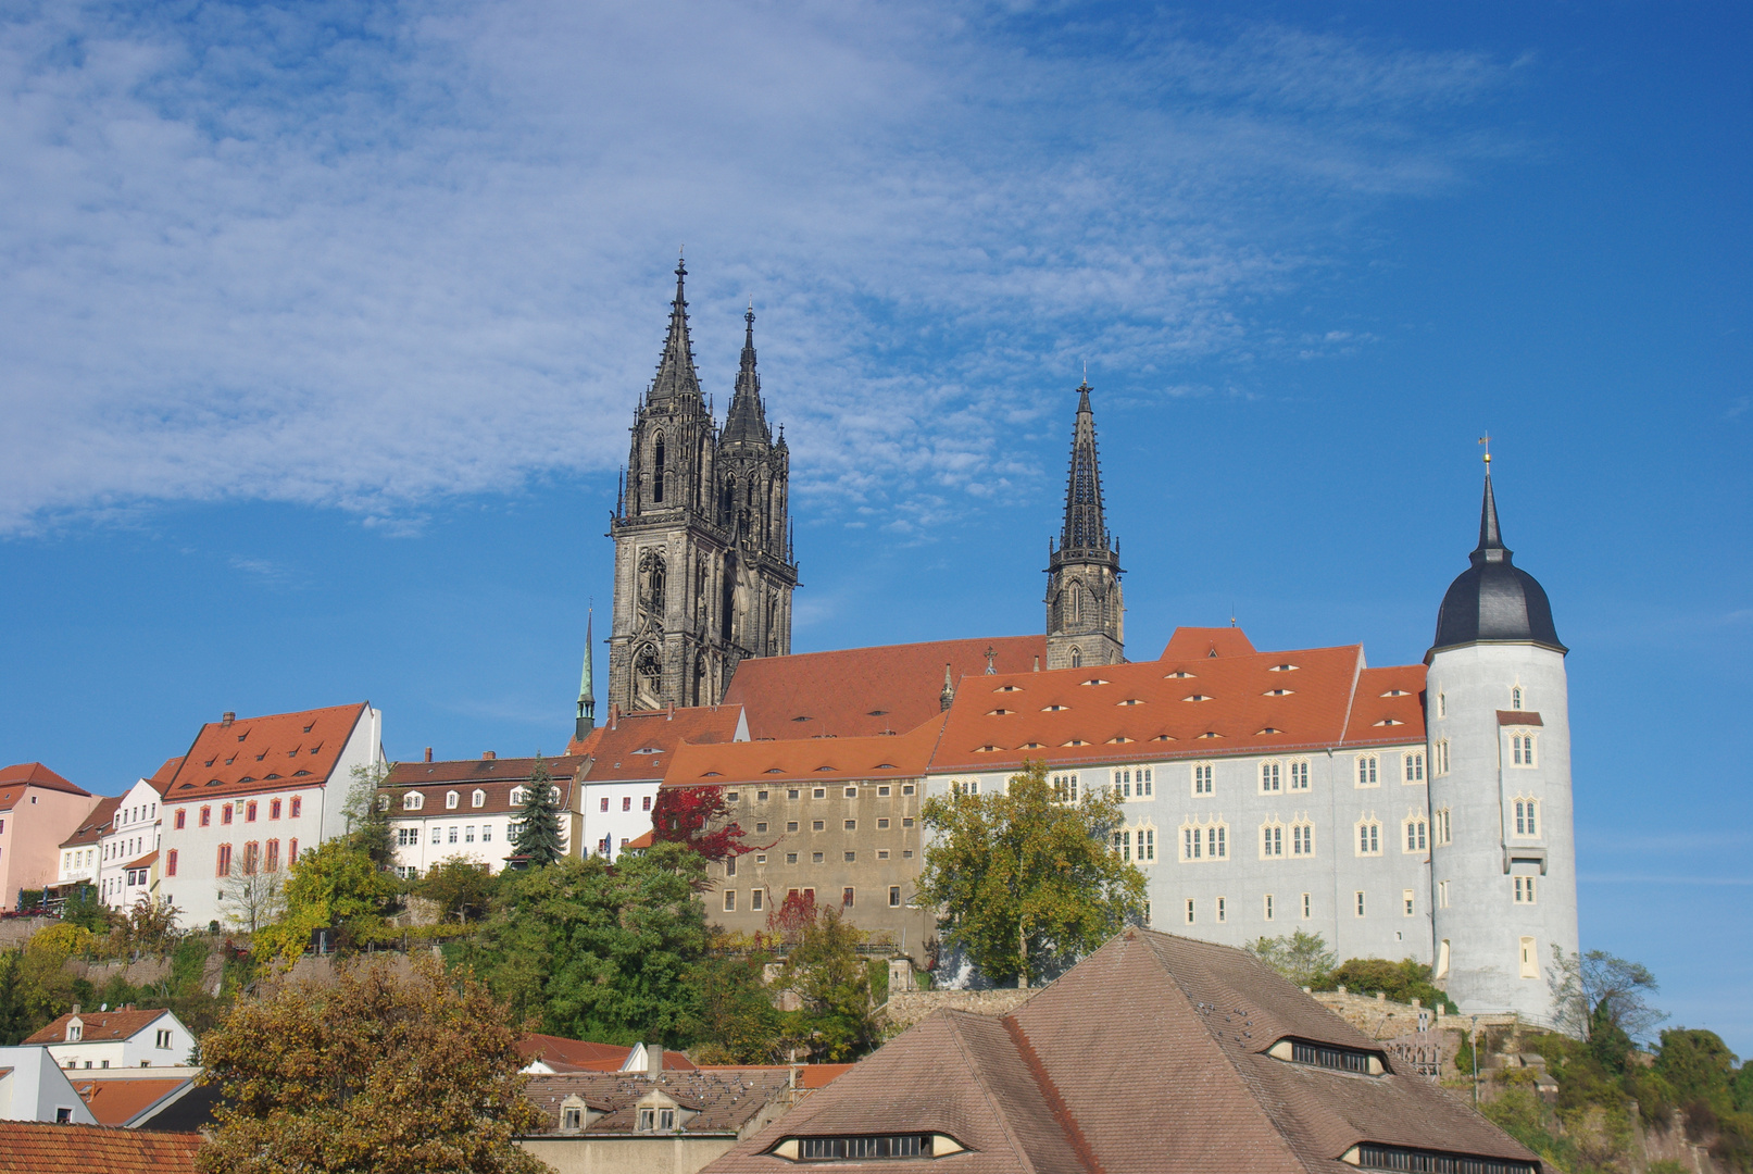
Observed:
[[[1423,655],[1495,436],[1583,941],[1753,1053],[1744,5],[12,5],[0,759],[223,710],[554,752],[687,244],[799,650],[1038,631],[1096,385],[1127,636]]]

